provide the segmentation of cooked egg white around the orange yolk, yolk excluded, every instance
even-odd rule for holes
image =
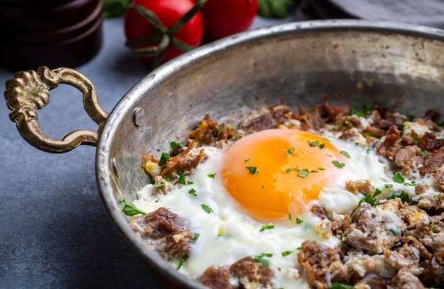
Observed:
[[[363,195],[354,195],[345,190],[347,180],[370,180],[374,187],[383,190],[384,195],[399,191],[399,186],[387,175],[387,161],[365,147],[353,142],[343,141],[335,136],[326,136],[338,151],[346,151],[350,158],[345,158],[343,174],[336,178],[329,187],[321,190],[318,202],[330,213],[350,213],[359,206]],[[186,264],[179,271],[190,277],[197,277],[209,266],[230,266],[245,256],[260,256],[272,253],[272,257],[263,257],[274,269],[276,287],[309,288],[304,278],[299,278],[295,268],[299,247],[305,240],[316,240],[331,247],[338,246],[340,240],[335,236],[323,234],[319,229],[321,219],[314,214],[294,216],[292,222],[274,222],[273,229],[261,231],[267,222],[257,221],[229,195],[223,186],[221,160],[223,150],[205,147],[206,160],[201,163],[189,179],[192,185],[176,185],[174,190],[163,194],[152,194],[153,185],[147,185],[137,193],[134,204],[138,209],[152,212],[158,207],[166,207],[182,217],[189,229],[199,234],[192,246],[192,253]],[[209,174],[216,174],[214,178]],[[189,193],[194,189],[195,195]],[[407,188],[409,189],[409,188]],[[406,190],[406,187],[403,187]],[[211,208],[206,212],[201,205]],[[303,220],[296,224],[298,217]],[[283,252],[292,252],[282,254]],[[176,264],[173,264],[176,266]]]

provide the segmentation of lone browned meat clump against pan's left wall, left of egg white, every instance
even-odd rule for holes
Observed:
[[[157,251],[168,261],[189,255],[194,234],[187,229],[182,218],[165,207],[136,217],[131,227],[137,231],[153,251]]]

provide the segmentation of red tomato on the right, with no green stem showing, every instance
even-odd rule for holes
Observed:
[[[257,0],[207,0],[202,8],[205,37],[216,40],[250,28]]]

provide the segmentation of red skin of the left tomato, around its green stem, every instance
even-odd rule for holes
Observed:
[[[155,13],[157,18],[167,27],[170,28],[182,16],[194,6],[193,0],[135,0],[131,6],[143,6]],[[124,19],[126,40],[135,40],[146,36],[152,36],[157,31],[155,27],[140,13],[129,9]],[[191,45],[193,48],[201,44],[204,36],[204,19],[201,12],[198,11],[175,35],[175,38],[182,40],[184,43]],[[131,50],[137,48],[147,48],[152,45],[142,45],[131,47]],[[163,62],[171,60],[176,56],[184,53],[184,51],[172,47],[167,48]],[[152,57],[140,58],[145,62],[152,62]]]

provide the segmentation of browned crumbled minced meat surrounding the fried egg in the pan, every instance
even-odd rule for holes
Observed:
[[[219,124],[206,115],[189,133],[189,146],[172,152],[171,164],[159,168],[158,175],[177,178],[179,171],[191,173],[204,158],[189,155],[192,147],[220,148],[255,131],[274,128],[315,133],[323,129],[335,131],[340,138],[365,143],[406,177],[428,177],[434,183],[409,184],[416,186],[416,195],[399,192],[389,200],[376,198],[372,204],[360,203],[349,214],[331,214],[322,206],[313,205],[311,212],[321,219],[323,234],[336,236],[342,243],[331,248],[316,241],[304,241],[295,270],[316,289],[330,288],[332,283],[355,288],[442,287],[444,139],[442,129],[435,123],[436,115],[427,111],[416,121],[417,126],[409,128],[413,123],[407,116],[379,105],[367,107],[360,116],[352,111],[348,105],[331,105],[328,99],[318,107],[299,107],[299,113],[279,104],[250,114],[236,128]],[[152,156],[145,161],[158,163]],[[367,197],[377,192],[370,180],[350,180],[345,187],[355,195],[362,193]],[[165,208],[137,217],[132,227],[167,260],[187,255],[194,241],[184,221]],[[271,268],[248,256],[228,267],[210,266],[197,280],[215,289],[267,288],[272,286],[273,275]]]

